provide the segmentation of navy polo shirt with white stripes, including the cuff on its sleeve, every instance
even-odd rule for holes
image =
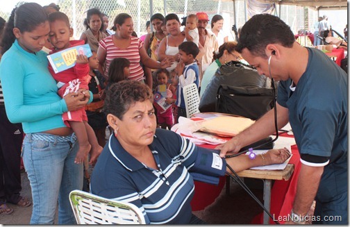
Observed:
[[[147,224],[188,224],[194,194],[189,171],[218,178],[225,174],[225,160],[215,167],[211,157],[216,153],[163,129],[156,130],[149,148],[159,170],[133,158],[112,135],[92,172],[92,194],[137,205]]]

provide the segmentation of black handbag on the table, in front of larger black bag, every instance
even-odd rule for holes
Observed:
[[[220,85],[215,112],[256,120],[274,107],[271,88]]]

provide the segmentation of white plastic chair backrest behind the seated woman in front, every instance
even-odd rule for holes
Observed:
[[[69,194],[77,224],[146,224],[140,209],[132,203],[115,201],[74,190]]]

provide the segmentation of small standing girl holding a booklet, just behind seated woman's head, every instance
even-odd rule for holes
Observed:
[[[165,103],[167,104],[175,103],[176,99],[173,99],[173,94],[175,93],[175,87],[169,83],[169,72],[167,71],[167,69],[159,69],[156,72],[156,76],[158,81],[158,87],[156,88],[156,92],[160,92],[159,88],[161,85],[166,85],[167,96],[165,99]],[[158,119],[158,124],[160,124],[160,128],[165,128],[165,129],[172,128],[174,124],[172,107],[167,108],[167,110],[163,110],[163,108],[158,108],[157,119]]]

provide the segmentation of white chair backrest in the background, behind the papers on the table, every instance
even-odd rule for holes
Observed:
[[[183,98],[185,99],[186,116],[188,118],[199,112],[199,94],[196,84],[191,83],[183,87]]]

